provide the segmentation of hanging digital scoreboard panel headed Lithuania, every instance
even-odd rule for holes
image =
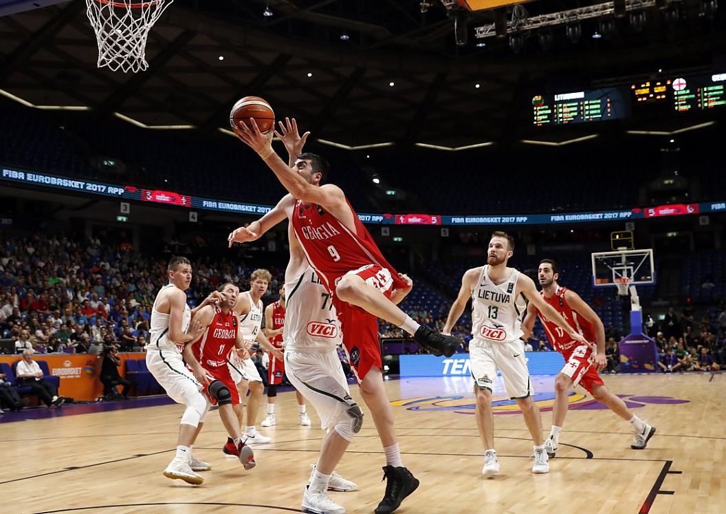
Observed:
[[[535,127],[626,118],[629,111],[629,103],[615,87],[532,97]]]

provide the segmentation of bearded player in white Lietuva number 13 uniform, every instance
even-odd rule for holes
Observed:
[[[550,465],[542,438],[542,417],[532,401],[524,348],[519,339],[523,332],[522,318],[527,302],[571,334],[573,340],[585,342],[580,334],[547,304],[537,292],[534,281],[514,268],[507,268],[512,257],[514,240],[504,232],[494,232],[489,241],[487,264],[464,273],[459,295],[454,301],[444,325],[444,334],[460,318],[466,303],[472,300],[472,334],[469,343],[471,374],[476,395],[476,421],[484,442],[484,475],[499,473],[497,451],[494,450],[494,416],[492,415],[492,385],[497,368],[502,372],[505,388],[522,411],[524,421],[534,441],[533,473],[547,473]]]

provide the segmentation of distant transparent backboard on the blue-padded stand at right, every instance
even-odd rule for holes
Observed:
[[[653,250],[619,250],[592,254],[592,284],[617,286],[617,278],[631,278],[631,285],[655,284]]]

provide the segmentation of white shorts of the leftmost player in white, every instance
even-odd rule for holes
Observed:
[[[176,350],[147,350],[146,366],[154,375],[159,385],[166,390],[166,394],[176,403],[189,405],[197,403],[201,396],[203,385],[197,382],[192,372],[184,366],[181,353]]]

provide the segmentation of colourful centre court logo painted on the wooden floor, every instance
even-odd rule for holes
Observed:
[[[629,409],[638,409],[648,403],[676,405],[689,402],[688,400],[680,400],[670,396],[619,395],[619,397],[623,398],[623,401]],[[532,398],[534,399],[534,403],[537,403],[539,410],[544,412],[551,411],[555,403],[555,393],[540,393],[534,395]],[[570,410],[607,409],[602,403],[582,393],[570,392],[568,395],[568,403]],[[409,411],[454,411],[456,414],[476,413],[476,400],[472,397],[462,395],[404,398],[403,400],[392,401],[391,405],[405,407]],[[492,411],[494,414],[521,414],[522,412],[516,401],[509,399],[493,401]]]

